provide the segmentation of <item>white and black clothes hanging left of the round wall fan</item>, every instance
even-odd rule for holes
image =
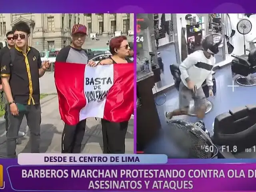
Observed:
[[[234,51],[233,39],[232,37],[236,34],[234,25],[230,20],[229,14],[226,14],[225,18],[225,38],[227,42],[228,54]]]

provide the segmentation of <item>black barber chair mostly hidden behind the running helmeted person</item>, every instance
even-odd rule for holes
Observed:
[[[175,88],[178,90],[179,89],[179,85],[180,85],[180,82],[181,82],[181,79],[180,79],[180,69],[179,69],[179,66],[176,65],[176,64],[172,64],[170,65],[170,71],[171,71],[171,74],[173,76],[173,79],[174,79],[174,86]],[[212,75],[214,75],[215,72],[212,72]],[[214,95],[216,95],[216,80],[214,78],[214,76],[212,77],[212,81],[213,81],[213,93]],[[209,88],[206,84],[206,80],[203,82],[202,84],[202,88],[203,88],[203,91],[204,91],[204,94],[206,96],[206,98],[209,97]],[[207,108],[206,108],[206,114],[208,112],[210,112],[210,110],[212,110],[212,103],[207,100]],[[195,110],[195,107],[194,107],[194,101],[192,100],[190,102],[190,106],[189,106],[189,110],[188,110],[188,115],[190,116],[196,116],[196,110]]]

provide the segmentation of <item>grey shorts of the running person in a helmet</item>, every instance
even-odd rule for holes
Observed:
[[[196,90],[194,93],[192,90],[188,89],[183,82],[180,82],[179,87],[179,105],[180,110],[188,109],[190,101],[194,100],[195,109],[206,107],[207,100],[202,87]]]

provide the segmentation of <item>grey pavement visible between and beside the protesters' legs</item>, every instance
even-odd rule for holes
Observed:
[[[64,122],[60,120],[58,111],[58,98],[56,95],[46,96],[41,100],[42,123],[41,123],[41,153],[60,153],[61,152],[61,136]],[[26,126],[26,118],[24,118],[21,131],[26,135],[21,140],[21,144],[17,145],[17,153],[30,152],[29,130]],[[82,142],[81,153],[99,153],[102,154],[102,132],[100,120],[88,118],[86,122],[86,133]],[[126,134],[126,153],[133,153],[134,149],[134,122],[133,118],[128,125]],[[6,135],[5,125],[0,124],[0,158],[6,156]]]

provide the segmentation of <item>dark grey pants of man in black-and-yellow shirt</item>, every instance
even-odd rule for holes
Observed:
[[[8,132],[7,132],[7,157],[16,158],[16,140],[24,115],[27,119],[28,128],[30,130],[30,145],[32,153],[39,153],[40,148],[40,124],[41,124],[41,106],[29,105],[26,112],[20,112],[18,116],[13,116],[10,112],[10,106],[7,106],[8,111]]]

